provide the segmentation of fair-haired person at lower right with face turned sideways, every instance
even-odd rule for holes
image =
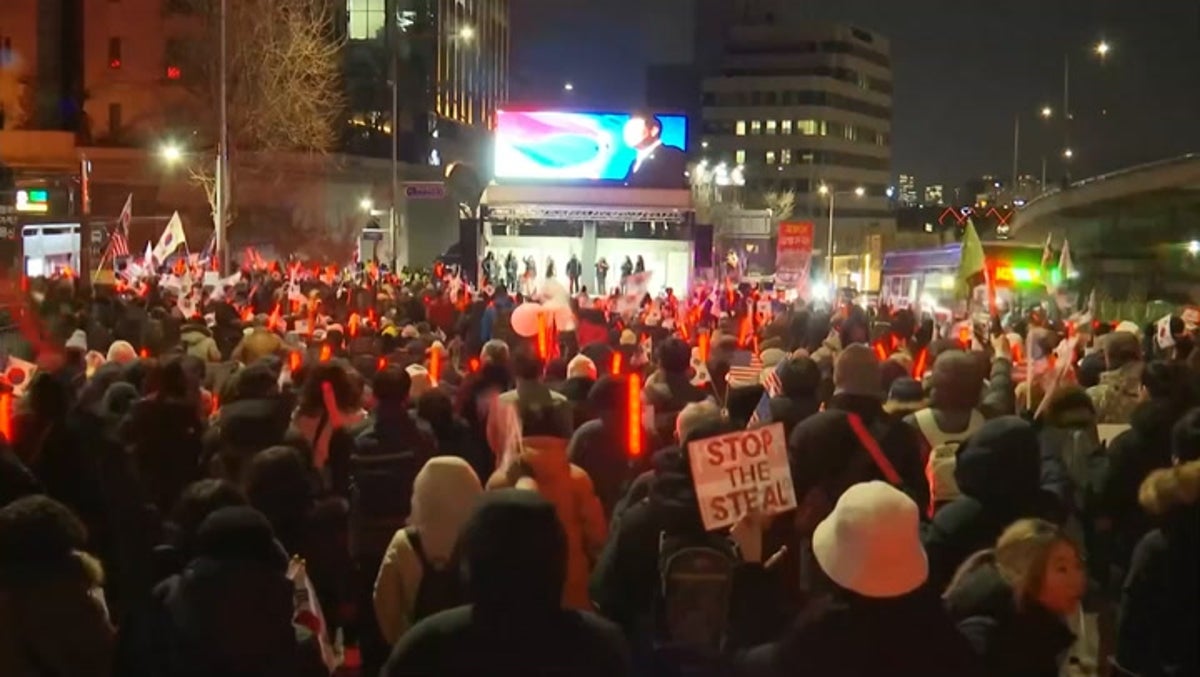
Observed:
[[[946,607],[988,677],[1057,677],[1075,641],[1087,576],[1079,547],[1044,520],[1020,520],[965,562]]]

